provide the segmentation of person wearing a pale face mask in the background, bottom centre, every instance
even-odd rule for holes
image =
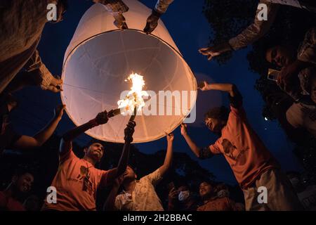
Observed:
[[[171,188],[169,192],[169,211],[195,211],[197,200],[190,191],[189,186],[183,185],[179,188]]]

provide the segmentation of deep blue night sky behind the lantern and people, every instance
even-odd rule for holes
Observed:
[[[128,4],[129,1],[124,2]],[[156,0],[141,2],[152,8]],[[65,50],[72,39],[81,16],[92,4],[91,1],[86,0],[70,0],[64,20],[58,24],[46,24],[38,49],[43,62],[53,75],[61,74]],[[204,0],[175,0],[169,6],[166,15],[162,16],[162,20],[178,49],[197,76],[198,82],[206,79],[209,82],[236,84],[244,97],[244,108],[250,124],[272,154],[275,155],[275,158],[279,160],[282,169],[284,171],[301,171],[302,168],[292,153],[294,145],[287,139],[277,122],[265,121],[261,115],[263,101],[261,95],[254,89],[258,75],[248,70],[249,64],[246,60],[246,53],[249,49],[235,52],[232,59],[222,66],[219,66],[215,61],[207,61],[205,56],[198,53],[199,48],[208,44],[211,33],[209,23],[202,14],[203,4]],[[13,113],[13,125],[17,131],[27,135],[34,135],[44,127],[53,117],[54,106],[61,103],[60,94],[41,91],[37,87],[26,88],[15,95],[18,97],[20,105]],[[208,146],[216,141],[216,136],[202,124],[202,116],[207,108],[220,104],[228,106],[227,94],[218,91],[199,92],[197,101],[198,120],[189,128],[192,139],[199,146]],[[74,127],[74,124],[65,113],[58,126],[57,134],[61,135],[72,127]],[[174,131],[174,134],[174,150],[188,153],[193,159],[197,160],[180,135],[179,128]],[[91,138],[84,134],[76,141],[79,145],[84,146],[89,139]],[[150,143],[137,144],[136,147],[144,153],[154,153],[166,148],[166,139],[162,138]],[[200,160],[199,162],[202,167],[209,169],[218,181],[237,184],[223,156],[215,156],[212,159]]]

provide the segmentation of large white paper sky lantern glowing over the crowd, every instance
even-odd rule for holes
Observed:
[[[127,77],[137,73],[145,81],[143,90],[151,94],[145,103],[150,105],[146,112],[152,114],[136,116],[133,143],[154,141],[176,129],[190,113],[197,82],[162,21],[147,35],[142,30],[150,8],[135,0],[124,2],[129,6],[124,17],[130,30],[117,30],[102,4],[94,4],[84,13],[65,53],[62,102],[74,124],[84,124],[103,110],[117,108],[122,91],[131,90]],[[180,98],[173,98],[170,105],[156,96],[159,91],[176,91]],[[170,110],[172,115],[166,115]],[[128,120],[129,116],[117,115],[86,134],[123,143]]]

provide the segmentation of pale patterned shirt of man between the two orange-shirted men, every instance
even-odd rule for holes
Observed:
[[[164,211],[154,187],[162,180],[159,169],[136,181],[132,193],[123,191],[115,199],[115,210],[120,211]]]

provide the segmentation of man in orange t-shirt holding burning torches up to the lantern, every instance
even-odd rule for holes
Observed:
[[[84,158],[80,159],[72,152],[72,140],[84,131],[105,124],[107,112],[99,113],[90,120],[62,136],[60,141],[60,163],[58,172],[51,186],[56,190],[56,199],[48,194],[42,210],[57,211],[92,211],[96,210],[96,191],[99,186],[107,186],[126,170],[129,149],[133,141],[136,123],[130,121],[125,133],[125,144],[117,168],[110,170],[96,169],[95,165],[103,157],[104,149],[100,143],[93,143],[84,149]],[[53,189],[51,189],[53,190]]]

